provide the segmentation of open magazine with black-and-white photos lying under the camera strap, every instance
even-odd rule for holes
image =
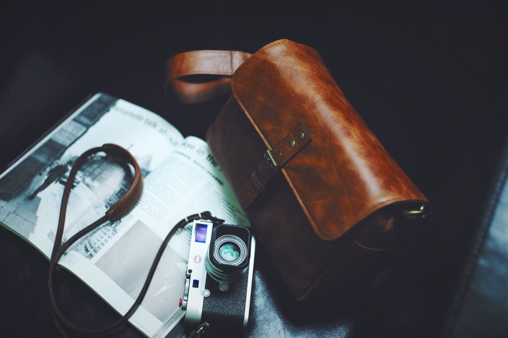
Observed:
[[[248,226],[248,220],[205,141],[184,138],[144,108],[96,94],[0,175],[0,223],[49,259],[67,175],[78,156],[104,143],[116,143],[134,155],[144,177],[143,196],[129,215],[75,243],[59,265],[124,314],[177,221],[205,210],[230,224]],[[128,189],[130,175],[114,159],[91,156],[76,176],[63,241],[103,216]],[[183,318],[178,301],[191,230],[192,224],[171,239],[130,319],[147,336],[165,337]]]

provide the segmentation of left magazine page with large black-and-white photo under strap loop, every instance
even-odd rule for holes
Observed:
[[[0,175],[0,224],[49,257],[64,185],[79,155],[91,147],[116,143],[129,149],[147,177],[182,141],[180,132],[153,112],[96,94]],[[104,156],[91,156],[71,192],[63,241],[103,216],[131,180],[131,170]],[[121,233],[123,222],[105,224],[94,242],[81,242],[75,249],[91,258]],[[106,291],[115,294],[115,288],[116,284]]]

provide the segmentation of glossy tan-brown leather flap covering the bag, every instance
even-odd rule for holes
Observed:
[[[320,238],[336,239],[386,205],[428,202],[313,49],[275,41],[236,70],[231,87],[267,149],[300,123],[312,136],[281,172]]]

